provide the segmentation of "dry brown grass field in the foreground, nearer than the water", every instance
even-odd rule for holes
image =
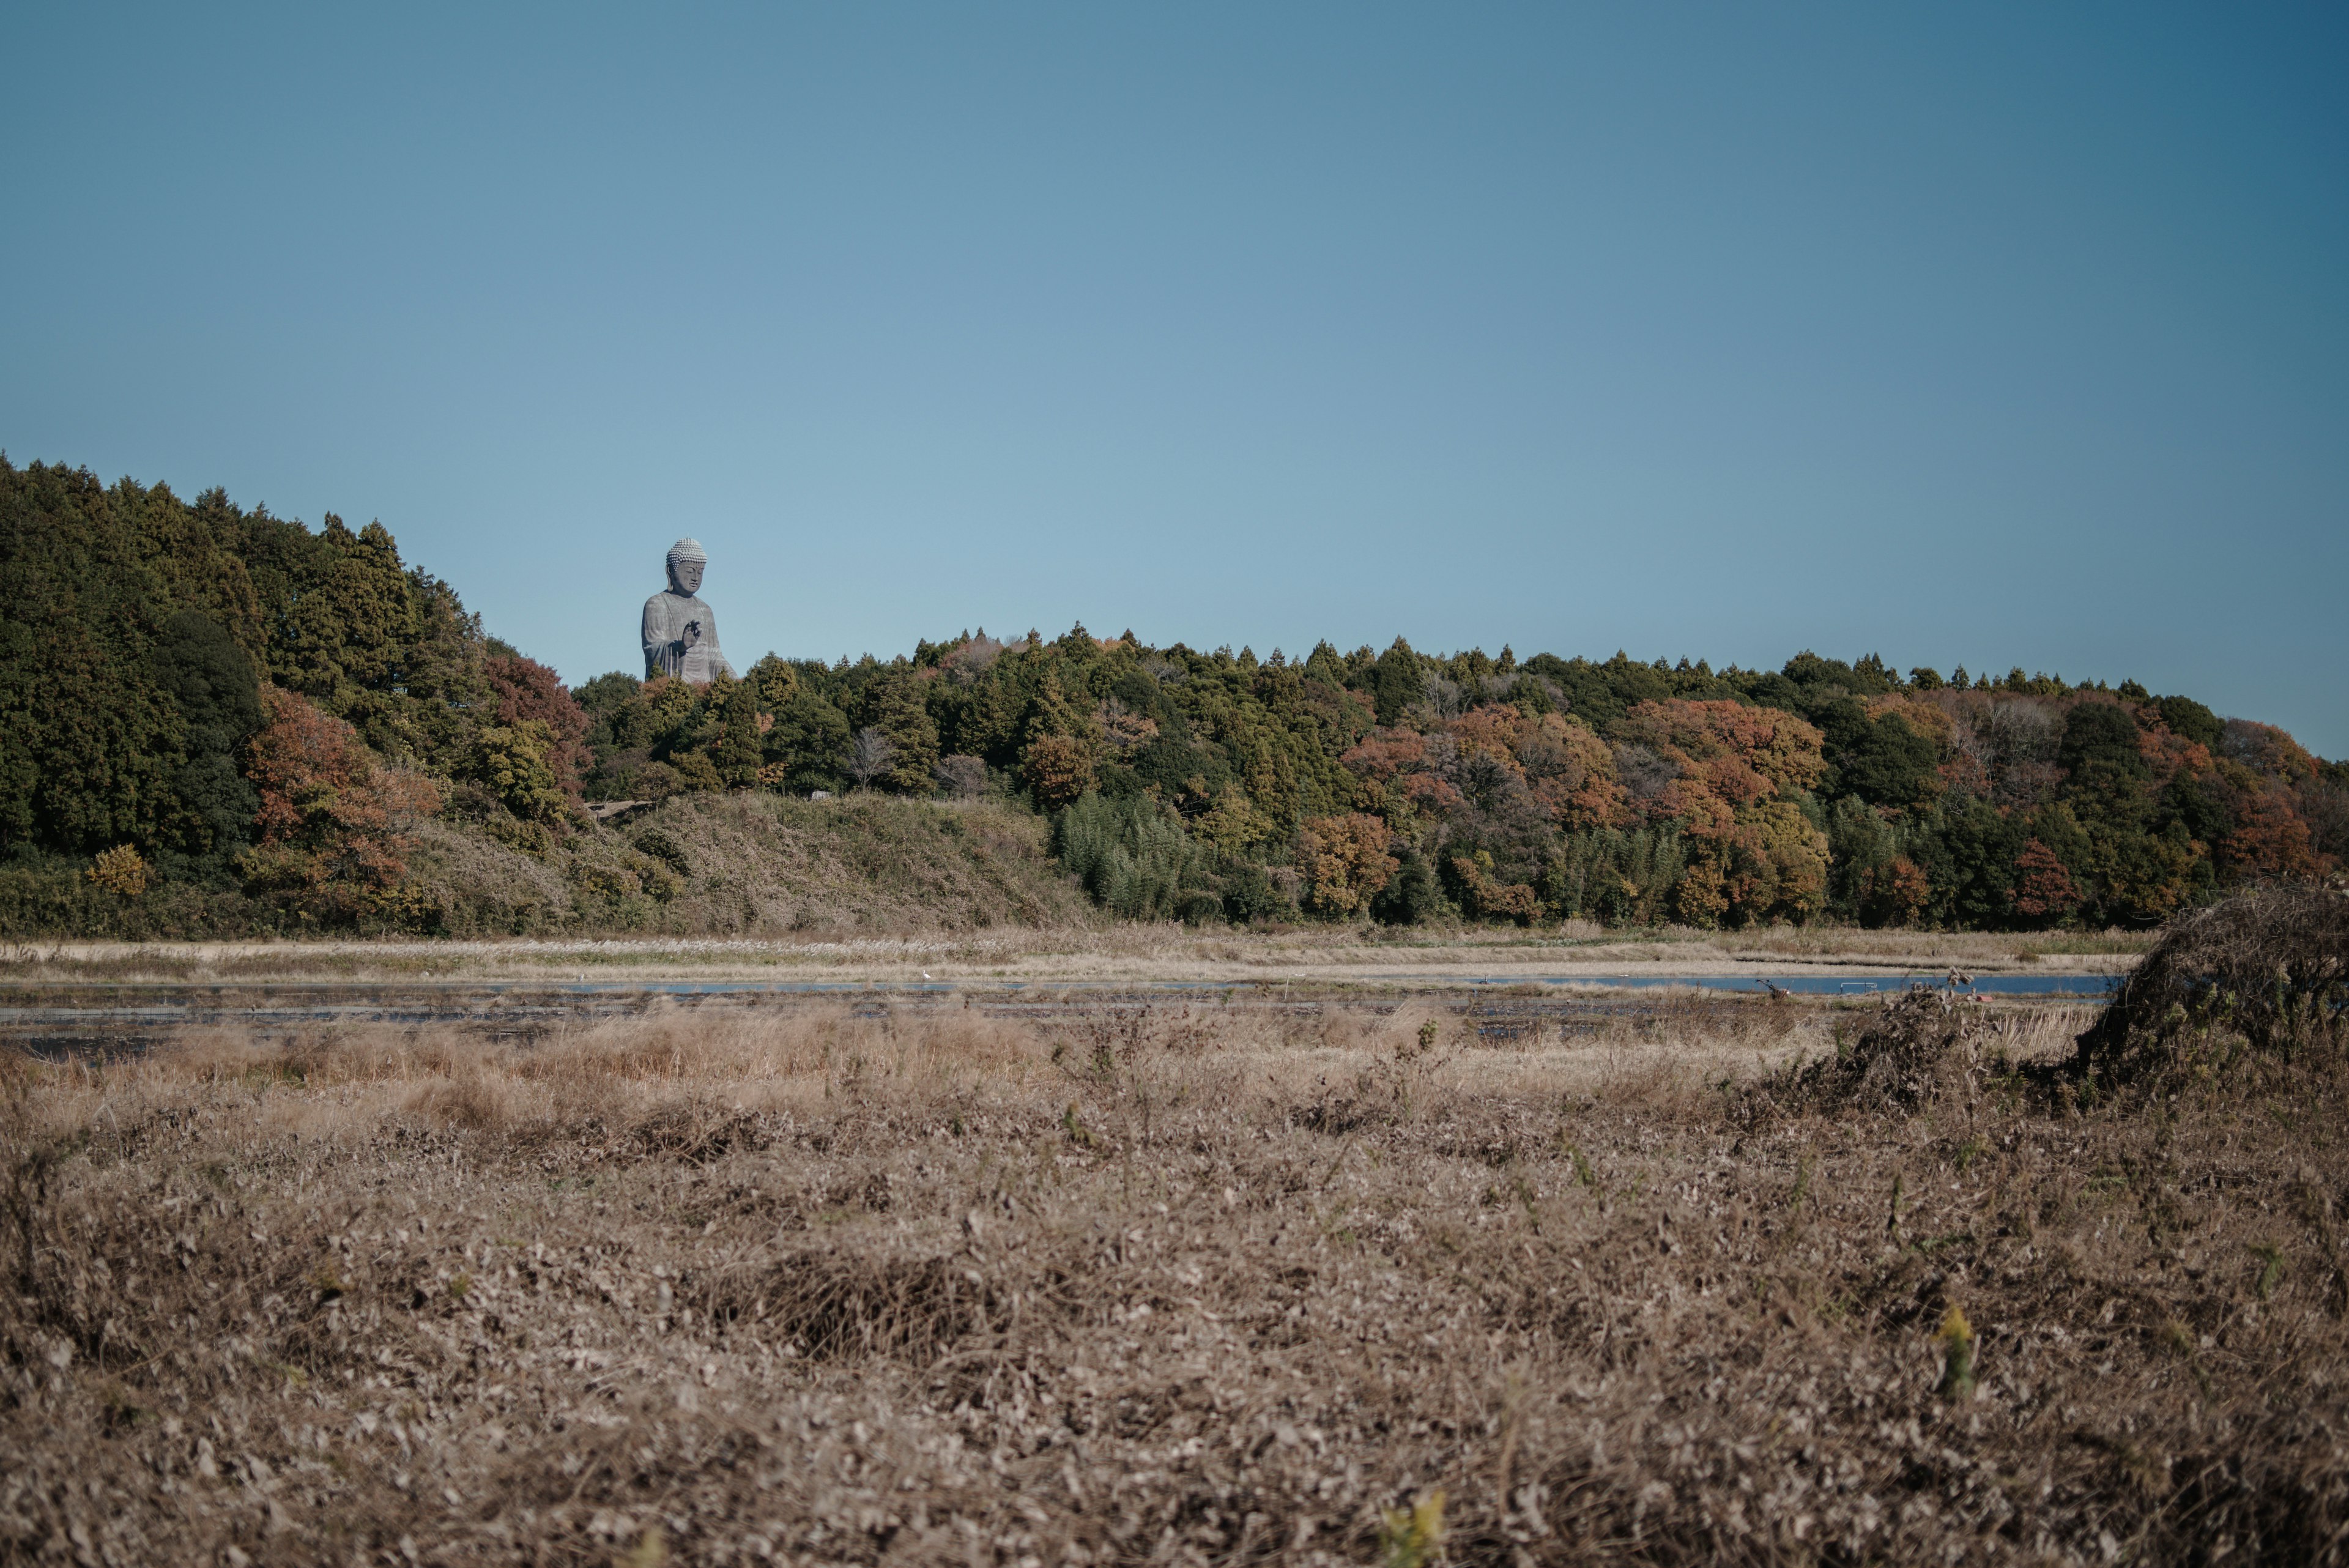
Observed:
[[[1875,1018],[14,1056],[0,1559],[2337,1559],[2328,1063],[2046,1095],[2091,1013],[1983,1006],[1914,1103],[1769,1079]]]

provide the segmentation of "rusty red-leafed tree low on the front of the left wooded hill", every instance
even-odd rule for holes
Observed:
[[[291,691],[263,686],[261,717],[244,769],[261,844],[244,879],[312,919],[352,919],[409,875],[404,830],[439,811],[439,788],[385,769],[359,731]]]

